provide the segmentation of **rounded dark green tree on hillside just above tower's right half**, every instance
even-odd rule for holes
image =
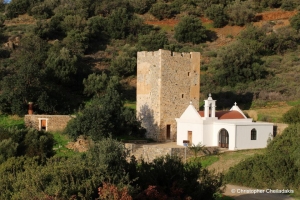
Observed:
[[[206,29],[202,26],[199,18],[194,16],[183,17],[175,26],[175,39],[178,42],[192,42],[199,44],[207,38]]]

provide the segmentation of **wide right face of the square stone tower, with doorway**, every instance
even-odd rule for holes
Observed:
[[[170,138],[176,141],[179,118],[192,101],[199,108],[200,53],[173,53],[162,51],[161,61],[161,136],[166,140],[166,127],[170,125]]]

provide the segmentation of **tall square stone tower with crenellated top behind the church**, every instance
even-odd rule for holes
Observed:
[[[200,53],[137,53],[137,116],[147,137],[176,140],[176,120],[192,101],[199,108]]]

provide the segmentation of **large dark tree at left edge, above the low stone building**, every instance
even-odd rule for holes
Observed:
[[[8,68],[10,75],[1,81],[3,112],[23,115],[28,102],[36,101],[43,93],[47,50],[48,44],[37,36],[21,40],[19,49],[14,52],[16,60]]]

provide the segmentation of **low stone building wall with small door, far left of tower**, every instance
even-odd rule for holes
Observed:
[[[46,131],[62,131],[74,117],[71,115],[25,115],[24,121],[26,127],[41,130],[41,120],[46,120]]]

